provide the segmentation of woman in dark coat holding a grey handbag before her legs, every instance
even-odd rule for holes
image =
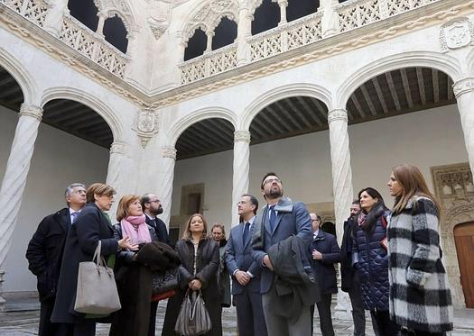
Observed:
[[[162,335],[177,335],[174,332],[174,325],[186,291],[190,288],[192,291],[201,291],[209,312],[212,330],[205,335],[221,336],[218,244],[207,237],[207,222],[200,213],[191,215],[186,232],[184,232],[182,239],[176,243],[176,251],[181,259],[180,287],[176,290],[176,294],[168,300]]]

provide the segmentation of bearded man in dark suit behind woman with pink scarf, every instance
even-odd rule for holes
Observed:
[[[163,213],[163,206],[158,197],[154,194],[145,194],[141,198],[142,209],[145,214],[145,221],[148,225],[153,227],[154,232],[156,232],[156,237],[158,241],[164,242],[165,244],[170,245],[170,238],[168,236],[168,230],[164,222],[156,217],[158,214]],[[153,302],[150,308],[150,325],[148,328],[148,336],[154,336],[155,334],[155,325],[156,321],[156,310],[158,309],[158,302]]]

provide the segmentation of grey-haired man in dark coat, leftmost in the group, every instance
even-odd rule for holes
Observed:
[[[60,277],[64,241],[70,224],[86,204],[86,186],[74,183],[66,188],[64,196],[68,207],[43,218],[26,250],[28,268],[37,277],[41,301],[40,336],[54,336],[57,331],[56,323],[51,323],[50,318]]]

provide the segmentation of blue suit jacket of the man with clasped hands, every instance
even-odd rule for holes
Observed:
[[[255,224],[251,226],[246,241],[244,242],[244,223],[240,223],[230,230],[228,237],[228,246],[226,250],[226,264],[228,272],[232,276],[232,294],[241,294],[244,286],[240,285],[233,276],[234,272],[239,269],[249,271],[254,276],[246,285],[246,288],[252,292],[260,292],[260,274],[262,268],[256,263],[252,257],[252,233]]]

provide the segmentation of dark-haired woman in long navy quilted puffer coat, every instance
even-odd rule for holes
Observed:
[[[376,336],[398,335],[388,313],[388,256],[386,216],[390,213],[376,189],[358,193],[362,211],[353,231],[352,264],[358,270],[364,308],[370,311]]]

